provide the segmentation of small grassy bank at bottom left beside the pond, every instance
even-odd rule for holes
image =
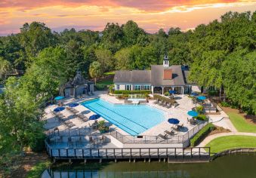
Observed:
[[[51,161],[41,161],[35,166],[32,167],[31,170],[27,173],[27,178],[38,178],[41,177],[42,173],[45,169],[47,169],[51,164]]]

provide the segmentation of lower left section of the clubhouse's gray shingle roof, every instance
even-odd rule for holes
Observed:
[[[150,84],[150,70],[116,71],[114,83]]]

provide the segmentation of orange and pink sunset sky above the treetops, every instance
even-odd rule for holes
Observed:
[[[147,32],[170,27],[186,31],[227,11],[256,11],[256,0],[0,0],[0,35],[39,21],[54,31],[102,31],[106,23],[134,20]]]

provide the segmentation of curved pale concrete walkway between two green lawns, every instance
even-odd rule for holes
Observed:
[[[256,133],[246,133],[246,132],[228,132],[228,133],[216,133],[214,135],[210,135],[202,141],[197,147],[206,146],[211,140],[214,140],[218,137],[230,136],[230,135],[239,135],[239,136],[253,136],[256,137]]]

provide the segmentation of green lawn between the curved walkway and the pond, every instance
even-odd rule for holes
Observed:
[[[221,152],[234,148],[256,148],[256,137],[253,136],[224,136],[211,140],[206,146],[211,147],[211,152]]]

